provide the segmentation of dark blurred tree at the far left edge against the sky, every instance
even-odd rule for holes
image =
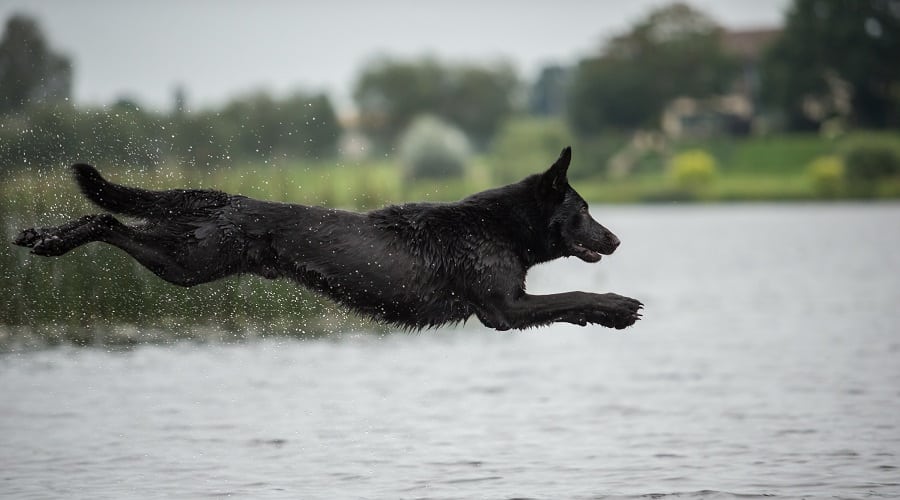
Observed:
[[[0,114],[67,99],[71,91],[69,59],[50,50],[35,20],[10,17],[0,40]]]

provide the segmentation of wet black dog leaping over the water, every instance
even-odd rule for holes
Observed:
[[[354,213],[259,201],[219,191],[147,191],[74,165],[81,191],[110,214],[26,229],[14,243],[62,255],[92,241],[128,252],[181,286],[252,273],[287,277],[379,321],[421,329],[472,314],[497,330],[564,321],[625,328],[642,304],[620,295],[525,293],[538,263],[600,260],[619,240],[569,186],[571,149],[543,174],[455,203],[392,205]]]

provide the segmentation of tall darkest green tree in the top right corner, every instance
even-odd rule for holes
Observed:
[[[900,3],[795,0],[765,61],[763,95],[788,126],[811,128],[834,113],[841,84],[863,127],[900,126]],[[811,104],[819,103],[818,113]]]

